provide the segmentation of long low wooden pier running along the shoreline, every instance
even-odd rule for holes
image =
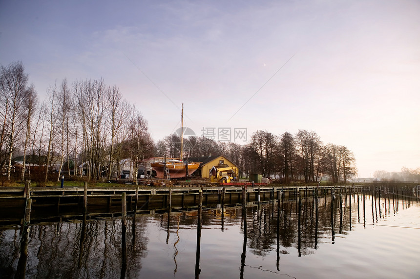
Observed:
[[[315,191],[318,196],[331,194],[332,191],[336,193],[350,193],[360,191],[362,185],[354,186],[254,186],[248,185],[244,187],[238,186],[223,186],[218,187],[202,187],[202,186],[173,186],[173,187],[33,187],[29,185],[22,187],[4,187],[0,188],[0,203],[6,206],[22,206],[26,199],[33,199],[33,206],[42,206],[45,201],[54,200],[58,206],[68,204],[79,204],[87,206],[94,200],[107,201],[110,206],[114,200],[122,199],[122,194],[125,193],[128,204],[131,204],[135,199],[143,200],[163,200],[167,202],[168,196],[172,199],[178,197],[184,200],[186,197],[196,199],[199,191],[203,191],[205,202],[209,199],[217,199],[220,202],[222,193],[224,193],[225,202],[232,200],[242,200],[242,189],[245,188],[247,200],[265,200],[278,199],[279,197],[285,199],[295,199],[300,194],[302,197],[314,196]],[[223,191],[224,190],[224,191]],[[82,202],[83,200],[83,202]],[[46,202],[50,203],[50,202]],[[97,202],[95,202],[97,203]]]

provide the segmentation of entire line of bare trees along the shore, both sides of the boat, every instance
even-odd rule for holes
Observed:
[[[63,174],[111,179],[122,159],[131,159],[137,173],[145,158],[180,157],[180,137],[172,134],[153,142],[138,108],[103,79],[56,81],[40,101],[21,61],[0,70],[0,170],[7,180],[42,184]],[[258,130],[245,145],[189,137],[183,152],[187,159],[225,155],[239,166],[242,177],[259,173],[284,183],[326,176],[347,181],[357,173],[347,147],[324,144],[307,130],[279,136]]]

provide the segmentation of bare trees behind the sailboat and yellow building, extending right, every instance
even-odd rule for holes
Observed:
[[[298,130],[279,136],[258,130],[248,144],[216,142],[205,137],[183,140],[183,158],[205,158],[225,155],[238,165],[241,177],[258,173],[279,179],[283,183],[303,180],[306,183],[327,178],[334,183],[348,181],[357,174],[356,159],[346,146],[324,144],[313,131]],[[166,136],[155,144],[157,156],[179,157],[181,140],[176,134]]]

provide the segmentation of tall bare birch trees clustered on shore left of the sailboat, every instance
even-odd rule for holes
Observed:
[[[121,159],[153,154],[147,120],[117,86],[63,79],[39,101],[21,61],[0,70],[0,170],[7,180],[45,183],[64,173],[110,179]]]

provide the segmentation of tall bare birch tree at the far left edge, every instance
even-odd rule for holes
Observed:
[[[0,67],[0,100],[5,104],[4,124],[2,127],[4,136],[7,137],[8,164],[7,179],[10,180],[12,168],[12,156],[15,145],[21,132],[26,93],[27,93],[28,74],[25,74],[24,66],[21,61],[12,62],[8,66]],[[3,133],[1,145],[3,144]]]

